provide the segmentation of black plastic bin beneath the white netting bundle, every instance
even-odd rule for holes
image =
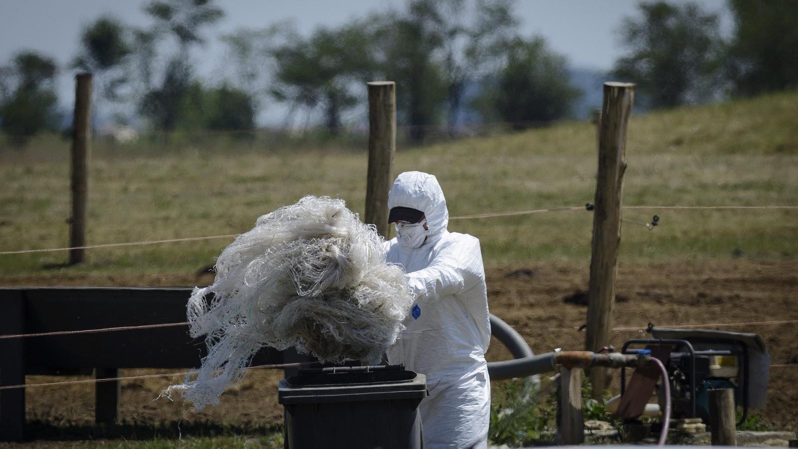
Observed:
[[[427,395],[425,375],[369,368],[301,370],[280,380],[285,447],[423,448],[418,404]]]

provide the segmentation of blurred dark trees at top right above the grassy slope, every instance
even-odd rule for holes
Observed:
[[[698,3],[641,2],[619,34],[612,74],[638,84],[650,107],[700,104],[798,87],[798,2],[729,0],[730,38]]]

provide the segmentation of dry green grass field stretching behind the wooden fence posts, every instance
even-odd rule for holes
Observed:
[[[625,205],[798,205],[798,93],[634,117]],[[223,148],[215,148],[215,143]],[[155,144],[153,144],[155,145]],[[266,144],[264,146],[267,147]],[[395,173],[434,173],[452,216],[584,205],[595,192],[595,128],[567,122],[499,137],[469,137],[397,150]],[[2,149],[2,250],[68,243],[69,144],[42,139]],[[89,185],[89,244],[243,232],[263,213],[306,194],[346,200],[361,212],[365,150],[263,149],[204,141],[164,148],[98,142]],[[653,232],[624,224],[623,261],[795,260],[795,211],[626,210]],[[591,213],[452,221],[480,238],[488,266],[589,256]],[[185,272],[209,264],[229,239],[89,250],[88,263],[42,268],[65,252],[0,256],[0,275],[113,276]],[[5,282],[8,283],[7,281]]]

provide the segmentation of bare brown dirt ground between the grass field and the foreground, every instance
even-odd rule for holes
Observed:
[[[587,266],[530,265],[488,270],[491,312],[512,324],[535,352],[553,348],[582,349],[587,307],[567,304],[563,298],[587,289]],[[30,278],[27,280],[30,281]],[[36,284],[86,284],[87,279],[36,280]],[[207,277],[192,276],[136,280],[136,284],[204,284]],[[117,284],[118,280],[92,279],[92,284]],[[6,279],[3,284],[14,284]],[[733,260],[717,263],[621,265],[616,284],[618,302],[615,326],[639,329],[653,322],[673,324],[740,323],[764,320],[798,320],[798,264]],[[757,332],[768,344],[773,367],[768,408],[760,411],[773,427],[798,429],[798,324],[729,326],[723,330]],[[641,331],[614,332],[612,343],[638,336]],[[489,360],[509,356],[496,340]],[[136,375],[154,370],[124,370]],[[238,387],[227,391],[219,406],[195,411],[178,397],[158,397],[174,379],[123,381],[120,414],[124,433],[143,437],[153,429],[211,435],[225,430],[263,430],[282,423],[276,403],[277,380],[282,372],[253,370]],[[64,377],[29,376],[28,383],[57,381]],[[93,424],[93,386],[28,387],[27,418],[35,434],[97,435]],[[101,431],[103,433],[104,431]],[[83,437],[85,438],[85,436]]]

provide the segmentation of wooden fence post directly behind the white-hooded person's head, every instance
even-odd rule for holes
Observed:
[[[365,223],[388,238],[388,191],[397,147],[397,94],[393,81],[373,81],[369,88],[369,171],[365,186]]]

